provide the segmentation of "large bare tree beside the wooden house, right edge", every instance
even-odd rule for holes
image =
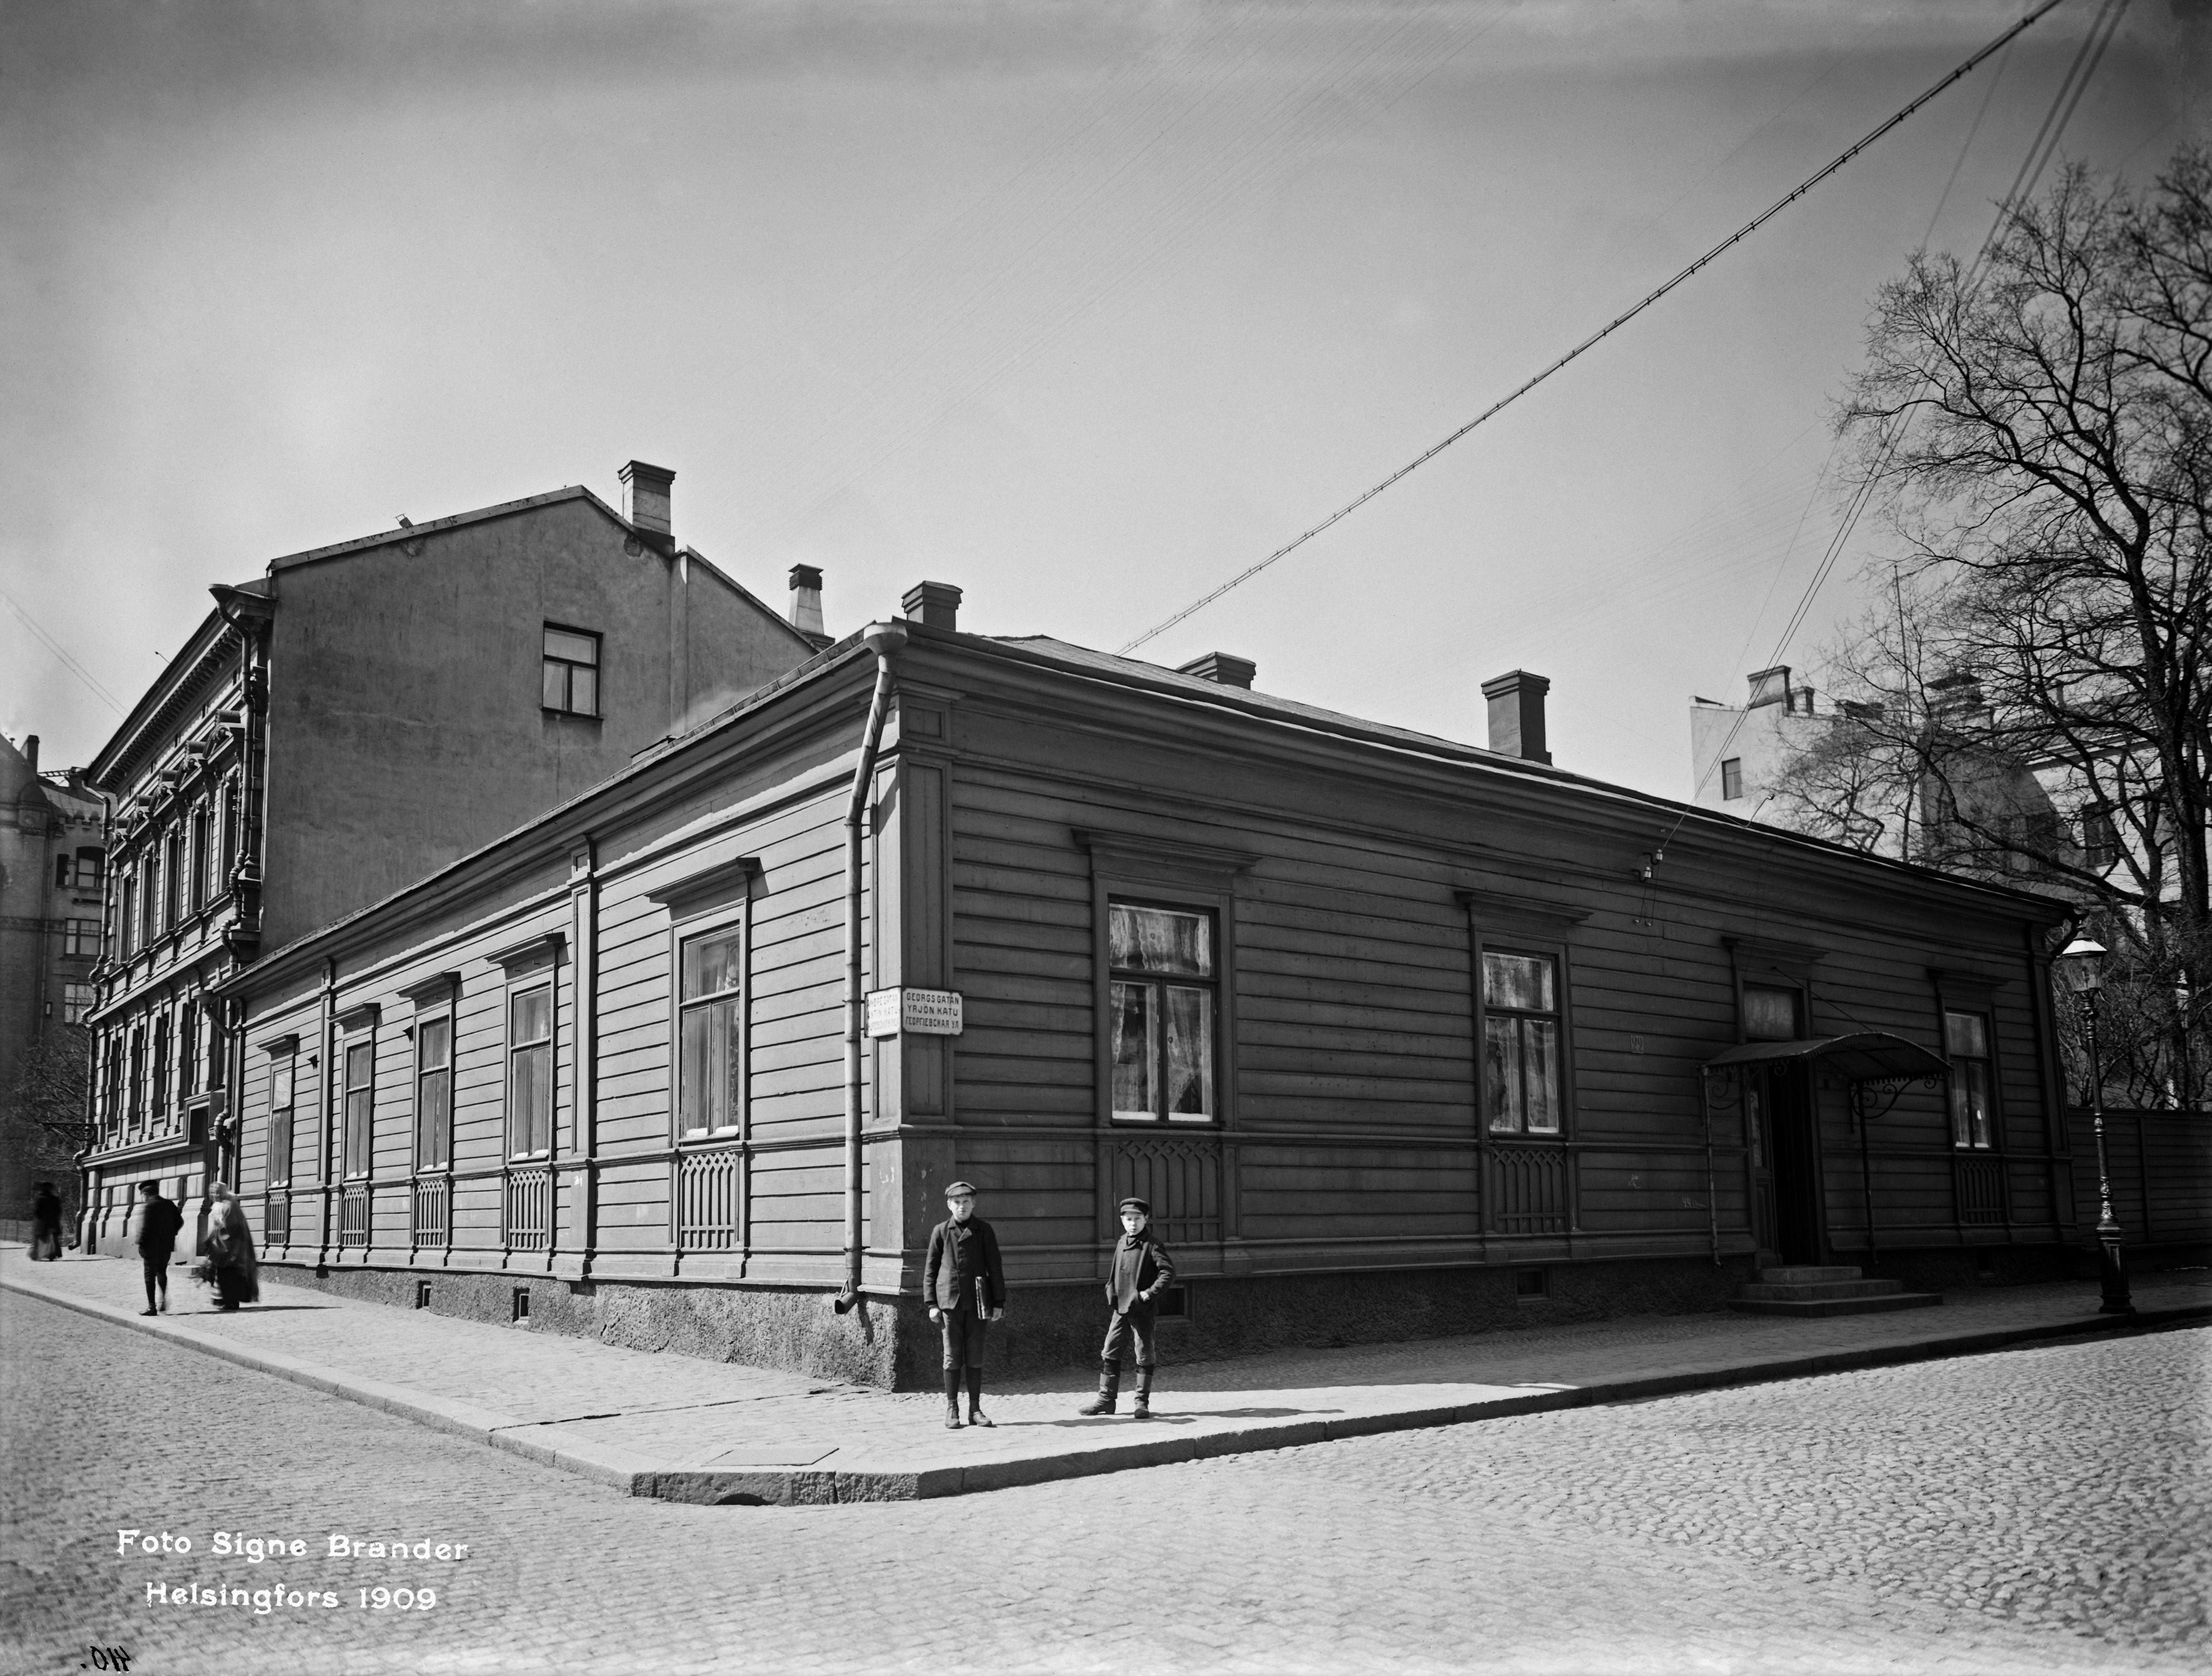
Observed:
[[[2143,192],[2068,170],[1978,272],[1916,254],[1838,427],[1902,557],[1785,818],[2070,895],[2139,1008],[2112,1019],[2128,1097],[2201,1103],[2212,155]]]

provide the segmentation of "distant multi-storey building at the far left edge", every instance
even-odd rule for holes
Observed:
[[[42,774],[38,734],[22,747],[0,739],[0,1227],[29,1227],[31,1190],[71,1185],[75,1141],[53,1110],[31,1112],[18,1081],[27,1055],[69,1052],[55,1030],[93,1008],[102,891],[100,798],[77,769]],[[66,1081],[60,1066],[31,1075]],[[44,1119],[44,1121],[40,1121]]]

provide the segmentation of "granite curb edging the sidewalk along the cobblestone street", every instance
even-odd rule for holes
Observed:
[[[1391,1431],[1460,1426],[1482,1420],[1555,1413],[1562,1408],[1590,1408],[1615,1402],[1648,1402],[1652,1397],[1670,1397],[1688,1391],[1774,1384],[1781,1380],[1805,1380],[1825,1373],[1851,1373],[1876,1366],[1931,1362],[1951,1355],[1984,1355],[1991,1351],[2053,1340],[2121,1338],[2130,1333],[2212,1322],[2212,1305],[2146,1309],[2132,1316],[2084,1316],[1978,1333],[1931,1333],[1902,1344],[1874,1344],[1849,1351],[1816,1351],[1812,1355],[1785,1355],[1728,1364],[1708,1362],[1659,1373],[1624,1375],[1619,1380],[1528,1391],[1511,1397],[1427,1404],[1418,1408],[1340,1415],[1329,1420],[1263,1420],[1197,1437],[1141,1437],[1126,1444],[1104,1444],[1082,1450],[1064,1450],[1057,1455],[1031,1455],[1022,1459],[945,1466],[905,1466],[887,1462],[876,1466],[863,1457],[849,1466],[836,1468],[692,1468],[604,1444],[582,1446],[535,1442],[522,1433],[538,1428],[538,1422],[518,1420],[495,1408],[482,1408],[451,1397],[427,1395],[407,1386],[385,1384],[367,1375],[305,1362],[281,1351],[230,1344],[208,1333],[199,1333],[168,1316],[146,1318],[137,1311],[100,1302],[97,1298],[27,1285],[27,1276],[22,1274],[0,1276],[0,1289],[60,1305],[62,1309],[75,1309],[93,1320],[104,1320],[113,1327],[126,1327],[170,1344],[181,1344],[186,1349],[307,1386],[310,1391],[321,1391],[332,1397],[358,1402],[367,1408],[378,1408],[400,1420],[411,1420],[458,1437],[469,1437],[480,1444],[489,1444],[491,1448],[507,1450],[509,1455],[520,1455],[522,1459],[540,1466],[575,1473],[577,1477],[604,1484],[624,1495],[717,1506],[818,1506],[838,1501],[918,1501],[949,1495],[980,1495],[989,1490],[1011,1490],[1024,1484],[1048,1484],[1053,1479],[1126,1473],[1144,1466],[1172,1466],[1217,1455],[1301,1448],[1307,1444],[1338,1442],[1345,1437],[1371,1437]]]

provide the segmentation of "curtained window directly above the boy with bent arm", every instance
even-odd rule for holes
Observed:
[[[1214,918],[1133,902],[1108,915],[1113,1114],[1212,1123]]]

